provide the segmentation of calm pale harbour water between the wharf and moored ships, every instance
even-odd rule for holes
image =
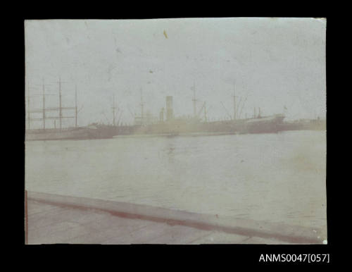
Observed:
[[[325,132],[26,143],[27,190],[326,228]]]

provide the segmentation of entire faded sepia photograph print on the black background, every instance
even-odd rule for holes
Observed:
[[[325,18],[24,24],[26,244],[327,244]]]

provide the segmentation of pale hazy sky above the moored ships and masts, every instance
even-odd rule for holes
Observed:
[[[113,94],[122,122],[132,123],[141,89],[144,111],[158,116],[172,95],[175,116],[192,115],[194,84],[210,119],[227,117],[221,102],[232,114],[234,86],[237,101],[247,97],[242,116],[286,106],[289,119],[322,117],[325,31],[326,20],[312,18],[27,20],[26,82],[41,94],[44,78],[54,94],[46,106],[58,105],[59,77],[63,106],[74,106],[77,85],[79,125],[112,122]],[[30,107],[41,108],[42,97]]]

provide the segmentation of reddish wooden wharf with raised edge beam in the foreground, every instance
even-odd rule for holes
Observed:
[[[310,228],[27,192],[26,243],[322,244]]]

